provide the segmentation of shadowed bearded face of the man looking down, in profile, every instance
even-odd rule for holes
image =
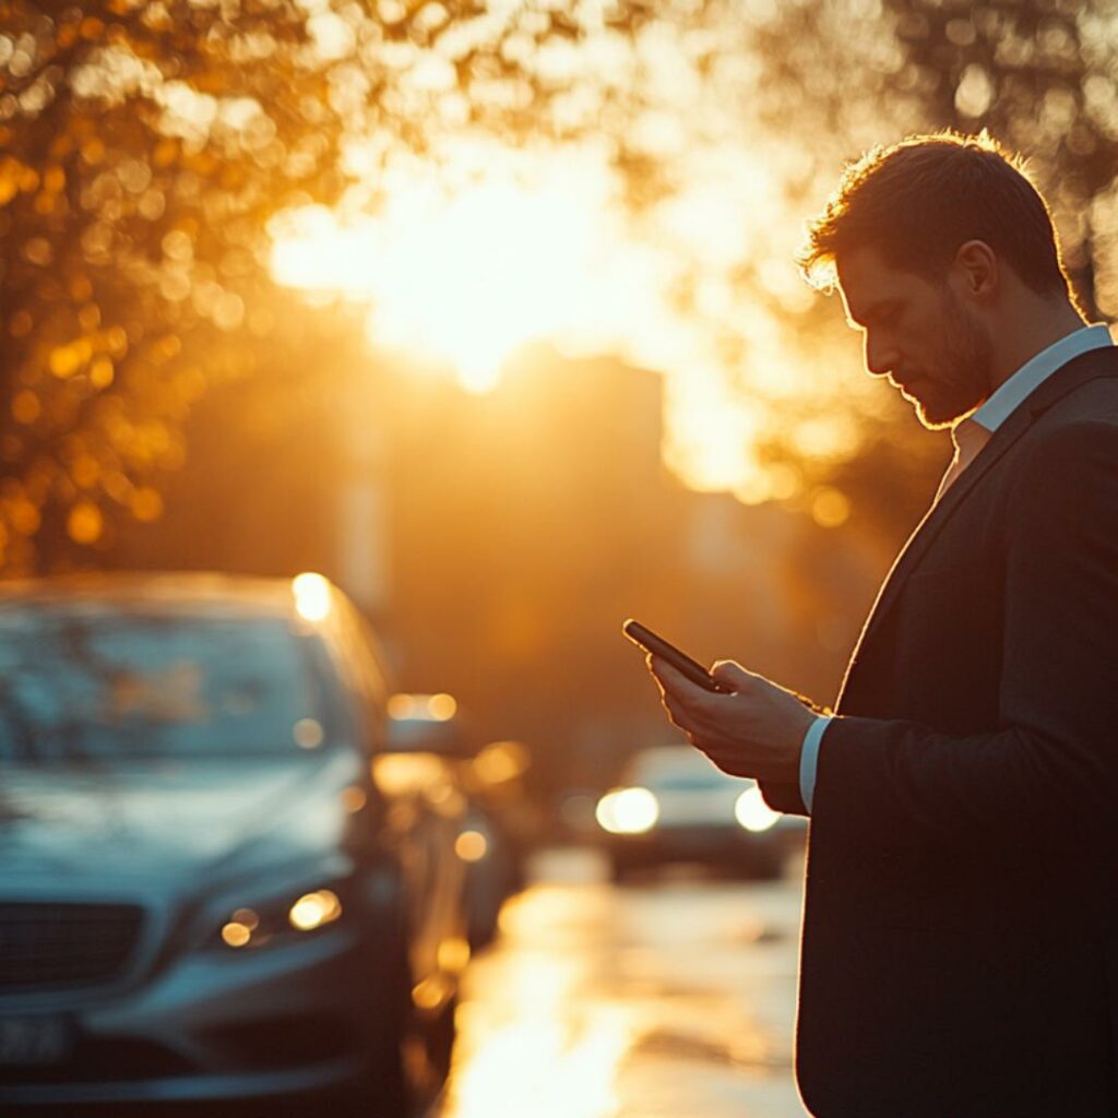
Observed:
[[[836,262],[846,318],[865,339],[865,368],[889,377],[926,427],[945,427],[989,395],[989,334],[953,286],[893,267],[875,248]]]

